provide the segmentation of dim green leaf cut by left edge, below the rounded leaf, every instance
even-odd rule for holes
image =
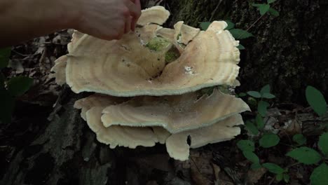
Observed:
[[[8,90],[1,89],[0,102],[0,122],[11,123],[11,115],[13,114],[15,99],[8,93]]]

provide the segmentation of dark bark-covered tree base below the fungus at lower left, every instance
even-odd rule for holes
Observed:
[[[42,118],[39,123],[32,121],[31,114],[35,115],[40,108],[30,104],[18,106],[18,109],[33,109],[29,118],[17,124],[27,124],[29,134],[25,133],[24,144],[12,146],[1,158],[6,159],[0,173],[1,185],[144,185],[151,180],[160,180],[161,184],[190,184],[188,170],[177,168],[179,162],[170,159],[164,145],[113,150],[97,142],[80,111],[73,109],[74,102],[83,95],[75,95],[69,88],[64,92],[48,122]],[[15,140],[22,142],[18,138]],[[178,177],[176,169],[184,171],[184,176]]]

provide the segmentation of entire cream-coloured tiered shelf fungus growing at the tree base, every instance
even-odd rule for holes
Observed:
[[[240,53],[226,22],[206,31],[182,21],[162,27],[169,16],[161,6],[148,8],[121,40],[74,32],[52,76],[75,93],[95,93],[74,107],[99,142],[131,149],[165,144],[172,158],[188,160],[189,149],[240,134],[240,113],[250,107],[229,95],[240,85]]]

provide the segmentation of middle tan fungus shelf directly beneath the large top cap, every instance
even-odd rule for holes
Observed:
[[[111,105],[102,111],[105,127],[160,126],[170,133],[206,127],[250,107],[240,98],[214,90],[198,98],[197,93],[165,97],[135,97],[124,104]]]

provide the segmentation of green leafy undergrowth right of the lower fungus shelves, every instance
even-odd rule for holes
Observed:
[[[271,94],[269,85],[264,86],[260,92],[249,91],[239,94],[240,97],[246,95],[250,96],[247,100],[257,111],[254,111],[254,118],[246,121],[247,137],[240,139],[237,146],[242,155],[250,161],[250,169],[258,172],[268,171],[269,174],[265,173],[271,176],[268,184],[280,181],[285,184],[294,182],[297,179],[294,170],[301,174],[303,183],[307,184],[310,181],[310,184],[314,185],[328,184],[327,102],[320,91],[312,86],[306,88],[306,100],[317,114],[317,121],[322,122],[317,123],[322,126],[320,137],[311,139],[305,136],[303,121],[291,118],[292,130],[288,130],[288,122],[282,127],[271,123],[267,111],[270,104],[266,100],[275,96]],[[276,114],[281,115],[279,109]],[[274,153],[275,158],[279,160],[269,158],[266,155],[268,153]],[[306,174],[297,170],[300,167],[307,169]]]

